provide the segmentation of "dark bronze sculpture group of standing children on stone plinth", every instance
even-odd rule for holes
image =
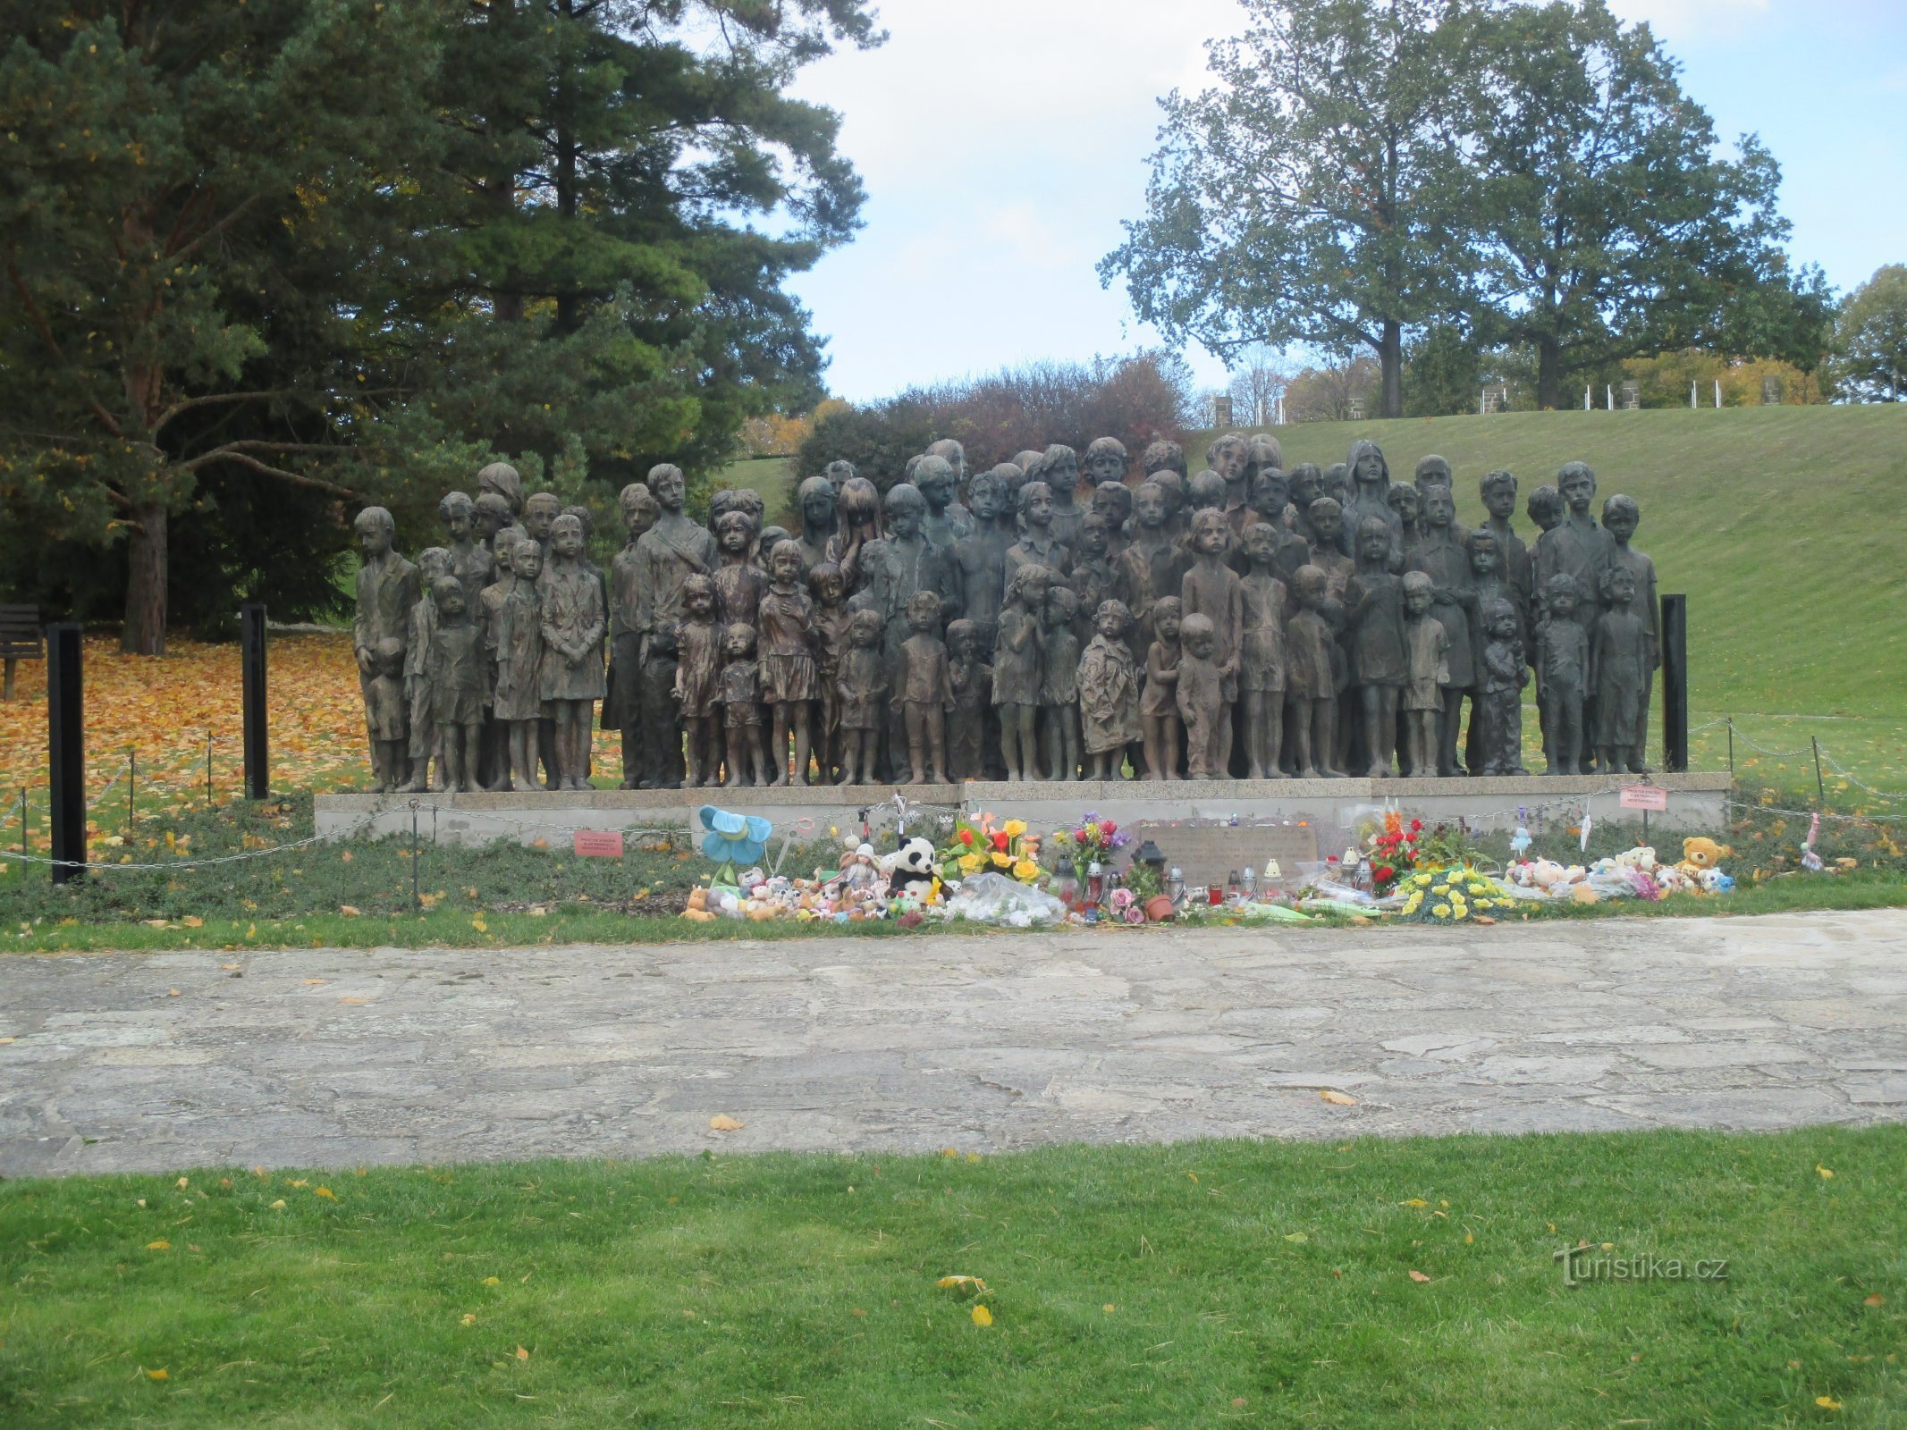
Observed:
[[[1526,545],[1505,471],[1468,530],[1442,458],[1409,486],[1371,442],[1287,475],[1232,433],[1207,461],[1154,442],[1127,473],[1098,439],[969,479],[942,440],[885,498],[843,461],[809,477],[799,534],[751,490],[704,528],[664,463],[624,488],[608,572],[589,511],[505,463],[418,564],[368,507],[374,786],[584,789],[599,700],[631,789],[1522,774],[1531,673],[1550,772],[1646,768],[1655,568],[1587,465],[1531,494]]]

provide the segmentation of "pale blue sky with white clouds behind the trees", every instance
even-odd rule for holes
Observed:
[[[1907,261],[1907,0],[1611,0],[1783,170],[1793,254],[1838,288]],[[807,71],[866,229],[795,280],[847,398],[1158,341],[1093,265],[1144,202],[1158,95],[1205,82],[1238,0],[885,0],[891,40]],[[1203,381],[1222,366],[1186,353]]]

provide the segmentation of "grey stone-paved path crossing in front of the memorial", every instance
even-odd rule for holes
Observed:
[[[0,1037],[8,1176],[1873,1123],[1907,913],[8,955]]]

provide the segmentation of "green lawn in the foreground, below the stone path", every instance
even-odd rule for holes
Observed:
[[[1890,1426],[1903,1184],[1903,1127],[8,1182],[0,1420]]]

